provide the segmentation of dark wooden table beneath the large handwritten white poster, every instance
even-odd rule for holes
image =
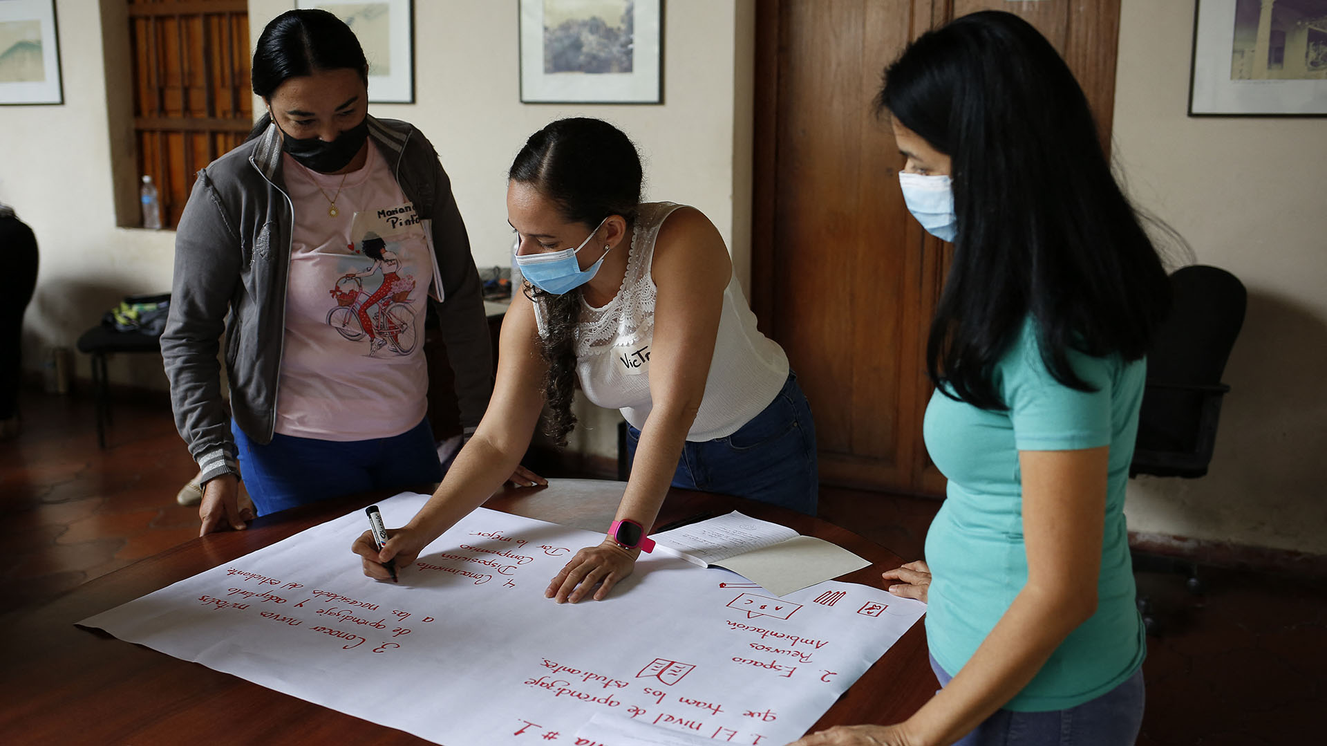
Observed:
[[[620,495],[620,492],[618,492]],[[386,494],[360,495],[292,508],[253,520],[247,531],[212,534],[92,580],[44,605],[7,615],[0,629],[0,734],[8,743],[427,743],[251,684],[243,678],[115,640],[74,623],[178,580],[267,547],[305,528],[362,508]],[[617,499],[602,490],[512,490],[486,507],[565,526],[602,531]],[[880,568],[902,560],[845,528],[740,498],[673,490],[658,524],[701,512],[740,510],[819,536],[871,560],[840,580],[880,587]],[[8,551],[21,551],[9,547]],[[345,561],[357,561],[346,548]],[[549,601],[552,603],[552,601]],[[592,601],[581,601],[592,603]],[[346,686],[391,686],[342,672]],[[401,682],[405,690],[409,684]],[[815,725],[897,722],[937,688],[921,624],[885,653]],[[479,745],[464,745],[479,746]]]

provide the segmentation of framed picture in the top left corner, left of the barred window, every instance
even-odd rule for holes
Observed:
[[[54,0],[0,3],[0,104],[64,104]]]

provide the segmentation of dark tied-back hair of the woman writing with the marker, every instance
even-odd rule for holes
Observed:
[[[551,122],[529,135],[516,154],[507,178],[535,187],[552,200],[569,223],[593,230],[605,218],[621,215],[628,230],[641,203],[641,158],[621,130],[601,119],[571,118]],[[544,396],[549,417],[545,431],[557,445],[576,426],[572,398],[576,390],[576,324],[581,291],[563,295],[524,283],[525,296],[539,304],[544,319],[540,353],[548,365]]]

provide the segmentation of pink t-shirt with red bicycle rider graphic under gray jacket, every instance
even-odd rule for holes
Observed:
[[[376,147],[362,169],[320,174],[283,155],[295,207],[276,431],[387,438],[427,411],[426,226]],[[329,214],[333,207],[336,215]]]

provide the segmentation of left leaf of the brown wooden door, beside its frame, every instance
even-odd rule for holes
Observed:
[[[900,227],[898,157],[871,115],[878,74],[906,42],[910,3],[788,4],[782,46],[811,64],[780,70],[775,234],[780,265],[772,327],[816,410],[823,454],[886,470],[898,459],[897,350],[906,335],[893,312],[908,287]],[[881,33],[877,28],[894,29]],[[808,311],[811,312],[808,315]],[[832,471],[832,469],[831,469]]]

